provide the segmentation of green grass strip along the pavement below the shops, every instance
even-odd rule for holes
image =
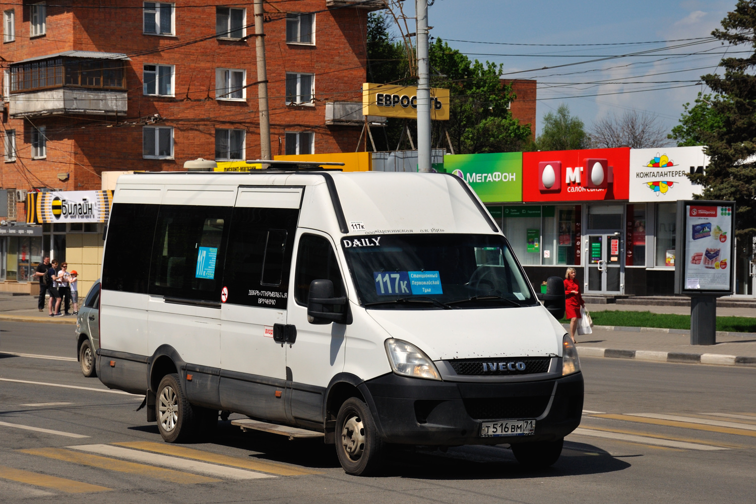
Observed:
[[[662,327],[690,329],[689,315],[652,314],[650,311],[593,311],[596,326]],[[569,320],[562,319],[563,323]],[[756,318],[717,317],[717,331],[756,332]]]

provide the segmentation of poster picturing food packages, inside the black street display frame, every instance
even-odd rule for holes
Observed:
[[[733,258],[733,206],[685,206],[684,289],[730,290]]]

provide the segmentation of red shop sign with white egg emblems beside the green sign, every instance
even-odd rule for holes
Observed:
[[[522,201],[627,199],[630,149],[522,153]]]

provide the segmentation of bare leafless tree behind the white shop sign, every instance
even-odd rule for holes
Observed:
[[[621,117],[612,114],[599,119],[593,123],[590,138],[596,147],[629,145],[633,149],[643,149],[669,144],[667,129],[659,122],[658,116],[637,110],[628,110]]]

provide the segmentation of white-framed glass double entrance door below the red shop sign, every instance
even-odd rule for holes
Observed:
[[[620,294],[624,266],[621,261],[621,235],[589,234],[585,244],[585,292],[590,294]]]

